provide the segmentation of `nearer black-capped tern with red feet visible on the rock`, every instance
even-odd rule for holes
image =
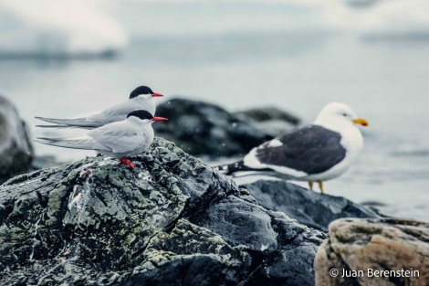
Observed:
[[[120,163],[135,164],[127,158],[144,152],[152,143],[152,123],[166,121],[163,117],[153,117],[149,111],[131,111],[121,122],[112,122],[86,132],[78,138],[43,138],[35,141],[64,148],[95,150],[97,153],[120,158]]]

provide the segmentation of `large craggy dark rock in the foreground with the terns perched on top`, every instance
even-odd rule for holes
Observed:
[[[326,235],[155,138],[0,186],[0,284],[313,285]]]

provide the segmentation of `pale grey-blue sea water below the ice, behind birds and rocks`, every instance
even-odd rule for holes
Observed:
[[[127,9],[119,9],[117,16],[135,29],[135,9]],[[164,13],[158,5],[153,9],[160,17]],[[264,15],[273,10],[279,13],[270,8]],[[150,20],[162,23],[156,13]],[[183,13],[192,14],[184,8]],[[285,13],[313,12],[289,8]],[[247,23],[249,16],[239,19]],[[392,216],[429,220],[429,41],[369,41],[318,26],[256,29],[247,23],[248,28],[231,29],[235,24],[227,21],[226,27],[218,24],[214,32],[202,33],[197,22],[203,16],[185,21],[194,30],[130,29],[130,46],[109,60],[3,59],[0,92],[16,103],[33,137],[58,135],[36,128],[41,122],[34,116],[67,118],[99,111],[126,100],[141,84],[166,95],[163,101],[180,95],[228,111],[276,106],[304,122],[313,121],[330,101],[345,102],[370,126],[361,128],[365,146],[359,161],[326,182],[326,193],[382,204],[382,211]],[[35,148],[39,155],[54,154],[62,161],[94,154],[40,144]]]

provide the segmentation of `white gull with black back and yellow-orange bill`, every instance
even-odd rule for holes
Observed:
[[[363,137],[356,124],[369,123],[359,118],[349,106],[331,102],[316,120],[292,132],[253,148],[233,164],[214,167],[225,175],[273,175],[287,180],[318,182],[346,172],[363,147]]]

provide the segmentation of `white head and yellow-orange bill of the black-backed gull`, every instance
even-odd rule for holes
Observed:
[[[345,128],[353,126],[353,124],[367,126],[368,122],[363,118],[359,118],[348,105],[331,102],[319,112],[314,124],[340,132]]]

